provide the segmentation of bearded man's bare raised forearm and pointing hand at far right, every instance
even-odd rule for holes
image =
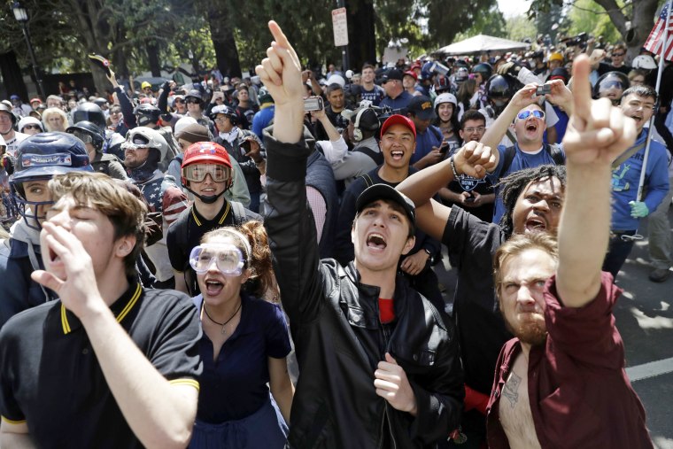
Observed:
[[[636,138],[633,120],[606,98],[591,100],[589,58],[573,64],[573,106],[563,138],[568,184],[559,225],[556,286],[561,302],[582,307],[600,290],[610,233],[612,161]]]

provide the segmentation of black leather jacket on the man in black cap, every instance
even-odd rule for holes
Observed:
[[[278,143],[268,134],[265,141],[264,224],[301,373],[290,447],[434,447],[460,422],[464,390],[453,325],[400,276],[396,319],[382,324],[378,287],[359,283],[352,264],[319,259],[304,184],[312,145]],[[417,400],[415,417],[375,393],[374,372],[385,352],[405,369]]]

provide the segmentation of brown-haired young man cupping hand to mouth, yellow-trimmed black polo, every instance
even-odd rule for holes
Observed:
[[[0,332],[0,445],[185,447],[201,331],[189,297],[137,281],[145,207],[104,174],[49,190],[31,277],[58,299]]]

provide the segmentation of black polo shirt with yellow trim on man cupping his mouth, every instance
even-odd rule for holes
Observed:
[[[187,295],[128,290],[110,307],[141,352],[171,383],[201,373],[201,327]],[[105,382],[81,321],[60,300],[12,317],[0,331],[0,414],[27,422],[39,447],[142,447]]]

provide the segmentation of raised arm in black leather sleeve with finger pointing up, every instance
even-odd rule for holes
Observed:
[[[275,100],[273,135],[267,143],[267,198],[264,219],[275,257],[282,305],[297,329],[321,307],[320,257],[313,214],[306,203],[306,159],[312,149],[304,131],[304,88],[297,54],[275,21],[275,42],[256,71]]]

